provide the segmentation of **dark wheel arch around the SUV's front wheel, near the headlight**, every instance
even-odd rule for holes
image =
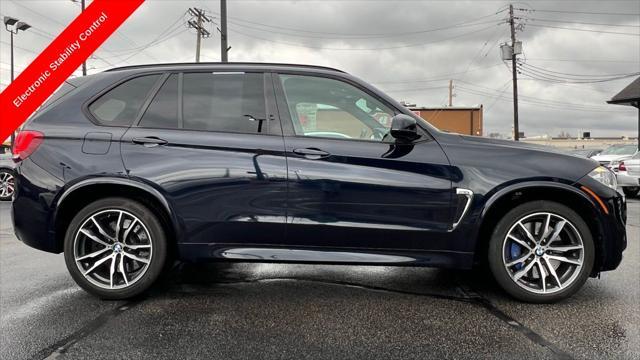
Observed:
[[[553,201],[570,207],[580,215],[591,230],[596,250],[592,275],[597,273],[604,254],[602,234],[598,219],[598,205],[578,188],[555,182],[527,182],[507,186],[494,193],[484,204],[478,220],[474,264],[485,264],[489,240],[498,221],[514,207],[531,201]]]

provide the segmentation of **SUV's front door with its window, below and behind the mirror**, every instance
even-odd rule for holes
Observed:
[[[447,249],[449,163],[426,131],[396,143],[398,110],[343,80],[280,74],[274,83],[287,124],[288,244]]]

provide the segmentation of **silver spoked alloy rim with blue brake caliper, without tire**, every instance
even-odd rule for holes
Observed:
[[[584,264],[584,244],[564,217],[539,212],[522,217],[503,241],[502,260],[521,288],[551,294],[570,286]]]

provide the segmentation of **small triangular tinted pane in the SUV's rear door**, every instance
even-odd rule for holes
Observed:
[[[178,128],[178,75],[172,74],[145,111],[140,126]]]

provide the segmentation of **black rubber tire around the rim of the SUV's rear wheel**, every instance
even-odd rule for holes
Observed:
[[[112,209],[123,210],[137,217],[149,233],[149,242],[152,245],[152,256],[150,256],[146,271],[135,283],[120,289],[105,289],[93,284],[85,278],[78,268],[79,265],[76,264],[74,255],[74,241],[82,224],[91,216]],[[122,251],[124,252],[124,250]],[[145,205],[126,198],[105,198],[87,205],[73,218],[64,239],[64,258],[67,269],[75,282],[90,294],[108,300],[128,299],[148,290],[163,272],[167,258],[167,239],[159,218]]]

